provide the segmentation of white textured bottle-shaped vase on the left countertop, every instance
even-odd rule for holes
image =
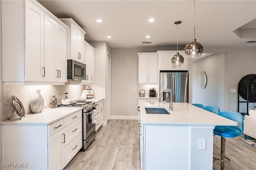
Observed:
[[[30,109],[32,113],[40,113],[44,108],[44,98],[40,94],[41,89],[36,90],[35,96],[30,103]]]

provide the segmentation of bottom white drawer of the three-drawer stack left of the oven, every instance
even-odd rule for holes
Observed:
[[[80,133],[73,141],[71,141],[66,147],[64,147],[65,166],[81,148],[82,148],[82,133]]]

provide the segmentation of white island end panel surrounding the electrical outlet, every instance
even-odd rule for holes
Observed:
[[[212,170],[214,127],[191,126],[191,170]],[[205,139],[205,149],[199,149],[198,139]]]

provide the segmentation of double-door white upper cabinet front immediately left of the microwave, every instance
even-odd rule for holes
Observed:
[[[66,82],[67,30],[44,14],[44,81]]]

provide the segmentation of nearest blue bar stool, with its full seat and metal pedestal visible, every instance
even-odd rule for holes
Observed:
[[[230,162],[230,159],[225,156],[225,143],[226,137],[233,138],[238,137],[244,132],[244,117],[235,111],[222,111],[218,115],[236,121],[238,123],[237,126],[216,126],[213,134],[221,137],[220,142],[220,158],[216,158],[220,160],[220,169],[225,170],[225,162]],[[215,154],[215,153],[214,153]],[[218,154],[219,155],[219,154]]]

